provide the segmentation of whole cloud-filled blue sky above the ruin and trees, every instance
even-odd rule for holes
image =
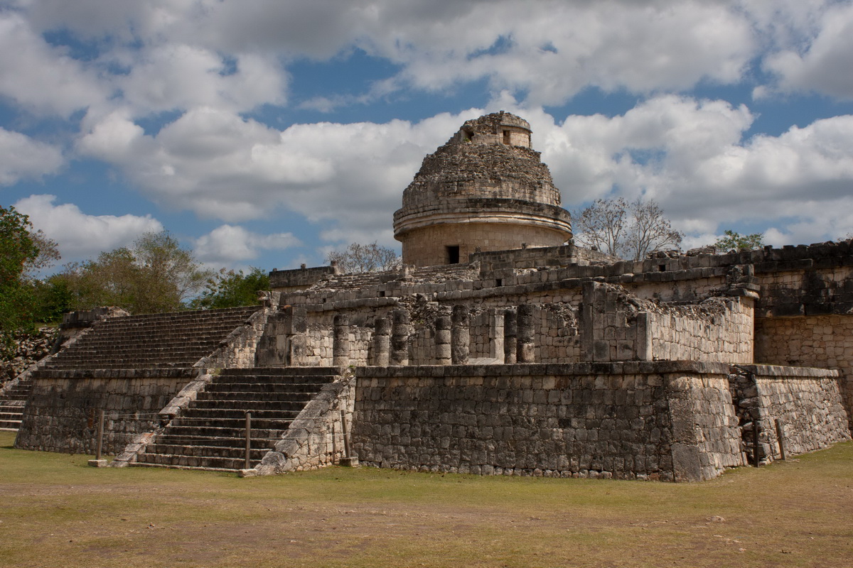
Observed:
[[[161,229],[215,268],[396,247],[422,158],[498,110],[566,209],[853,236],[851,2],[0,0],[0,52],[2,202],[63,262]]]

